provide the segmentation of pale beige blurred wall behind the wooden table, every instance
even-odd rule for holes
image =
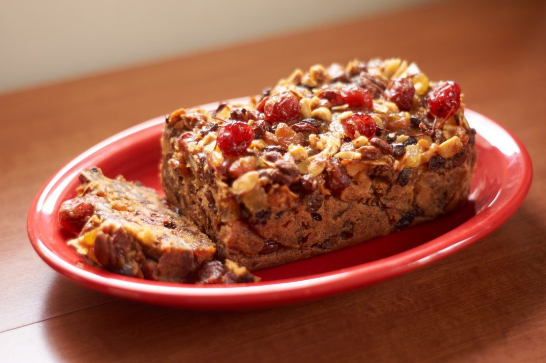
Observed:
[[[0,93],[430,0],[0,0]]]

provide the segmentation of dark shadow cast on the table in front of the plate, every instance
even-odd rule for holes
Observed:
[[[445,360],[503,341],[546,297],[544,222],[524,206],[489,237],[425,269],[296,306],[195,312],[128,300],[45,322],[62,360]],[[58,301],[59,277],[50,299]],[[45,309],[48,309],[46,304]]]

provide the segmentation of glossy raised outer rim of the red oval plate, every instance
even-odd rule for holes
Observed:
[[[244,102],[245,99],[239,98],[233,100],[233,102]],[[210,103],[200,107],[210,109],[214,108],[216,104]],[[489,126],[500,129],[515,142],[519,148],[519,158],[523,162],[521,163],[523,173],[520,176],[520,182],[507,199],[501,200],[500,210],[502,213],[488,216],[482,216],[478,213],[447,233],[426,241],[419,246],[385,258],[303,277],[234,285],[192,285],[142,280],[103,270],[100,270],[101,273],[96,273],[81,269],[55,254],[55,251],[52,251],[41,241],[41,235],[37,235],[40,221],[37,217],[41,213],[40,203],[43,204],[43,200],[48,197],[52,189],[55,187],[57,189],[60,188],[57,185],[58,182],[67,180],[67,178],[68,180],[72,180],[72,178],[68,177],[67,173],[74,169],[75,166],[85,162],[86,159],[93,155],[97,156],[97,153],[115,142],[121,141],[124,138],[130,138],[130,136],[138,133],[143,133],[146,129],[157,127],[159,124],[164,123],[164,117],[153,118],[110,136],[70,160],[70,162],[52,175],[40,188],[29,209],[27,217],[28,237],[40,258],[54,270],[69,279],[103,293],[158,305],[186,308],[214,308],[217,310],[266,307],[317,299],[365,287],[366,285],[416,270],[419,267],[428,265],[459,251],[461,248],[470,245],[498,228],[523,203],[529,192],[533,174],[531,158],[525,146],[510,130],[491,120],[489,117],[470,109],[465,109],[465,113],[467,117],[470,115],[471,119],[481,118],[482,121],[489,123]],[[490,141],[489,139],[486,140]],[[476,221],[472,223],[475,218],[480,223],[476,223]],[[456,232],[466,225],[471,225],[468,230],[462,233],[466,237],[458,238],[457,235],[460,235],[460,233]],[[471,231],[472,233],[470,233]],[[213,297],[221,298],[222,301],[212,299]]]

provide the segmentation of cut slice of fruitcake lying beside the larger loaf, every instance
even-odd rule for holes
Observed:
[[[186,283],[254,282],[245,267],[215,260],[216,247],[155,190],[98,168],[80,174],[78,197],[65,201],[59,218],[78,236],[69,245],[116,273]]]

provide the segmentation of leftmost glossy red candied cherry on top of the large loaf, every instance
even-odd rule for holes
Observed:
[[[254,130],[246,122],[232,121],[218,130],[216,143],[224,156],[241,156],[254,139]]]

